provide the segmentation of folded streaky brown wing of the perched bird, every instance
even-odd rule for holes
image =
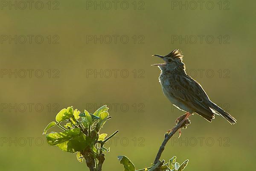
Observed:
[[[209,97],[197,81],[189,75],[175,75],[174,79],[172,78],[169,81],[171,84],[169,84],[167,90],[175,96],[175,99],[203,116],[209,122],[214,119],[214,113],[212,113],[209,106]]]

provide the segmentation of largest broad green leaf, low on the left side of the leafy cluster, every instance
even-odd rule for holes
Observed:
[[[49,133],[46,135],[49,145],[56,145],[63,151],[75,153],[84,150],[91,145],[91,139],[84,135],[79,128],[65,130],[61,133]]]

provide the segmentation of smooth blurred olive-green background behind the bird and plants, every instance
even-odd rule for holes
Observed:
[[[119,133],[109,144],[104,171],[123,170],[118,155],[129,157],[137,169],[150,166],[165,131],[183,114],[163,95],[160,71],[150,66],[162,61],[151,55],[176,48],[188,73],[238,123],[231,126],[218,116],[209,123],[194,115],[161,159],[189,159],[190,171],[254,167],[255,1],[204,1],[201,7],[183,1],[180,7],[180,1],[128,0],[116,8],[112,1],[37,2],[29,9],[29,3],[25,8],[20,1],[14,6],[15,1],[1,1],[2,171],[88,170],[76,154],[48,146],[42,132],[64,107],[93,112],[106,103],[113,118],[102,131]],[[94,42],[94,35],[102,43]]]

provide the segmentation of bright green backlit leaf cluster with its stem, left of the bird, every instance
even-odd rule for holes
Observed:
[[[79,162],[86,159],[87,166],[90,165],[92,170],[97,171],[105,160],[104,153],[109,151],[104,144],[118,132],[117,130],[111,136],[107,133],[99,133],[108,119],[111,119],[111,116],[106,105],[94,113],[89,113],[87,110],[80,113],[71,106],[58,112],[55,121],[47,125],[43,134],[46,134],[49,145],[55,145],[62,151],[77,153]],[[63,131],[47,134],[47,130],[52,127],[59,127]]]

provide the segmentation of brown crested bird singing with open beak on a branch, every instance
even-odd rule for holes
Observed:
[[[181,118],[183,119],[182,122],[184,122],[194,113],[209,122],[212,122],[215,115],[219,115],[231,125],[236,124],[236,119],[212,102],[201,84],[186,73],[183,54],[179,49],[175,49],[165,56],[152,56],[159,57],[164,61],[163,64],[152,64],[152,66],[159,67],[161,71],[159,82],[162,86],[163,94],[175,107],[186,112],[176,120],[176,124]]]

